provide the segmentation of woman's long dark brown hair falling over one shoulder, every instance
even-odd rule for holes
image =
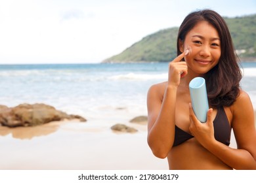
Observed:
[[[242,72],[239,59],[234,52],[231,35],[224,19],[213,10],[198,10],[186,16],[177,37],[177,55],[181,54],[179,42],[184,42],[186,34],[198,22],[207,21],[219,33],[221,40],[221,57],[219,63],[203,76],[206,82],[209,104],[212,107],[230,106],[240,93]]]

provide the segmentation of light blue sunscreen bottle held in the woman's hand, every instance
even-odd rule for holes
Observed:
[[[200,122],[205,123],[207,120],[207,111],[209,110],[205,79],[202,77],[192,79],[189,83],[189,90],[192,108],[196,114],[196,118]]]

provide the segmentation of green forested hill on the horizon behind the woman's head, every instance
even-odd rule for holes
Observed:
[[[240,59],[256,61],[256,14],[224,19]],[[172,27],[148,35],[103,62],[170,61],[176,57],[178,29]]]

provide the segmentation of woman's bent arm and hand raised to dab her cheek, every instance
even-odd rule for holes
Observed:
[[[175,135],[175,105],[181,76],[187,74],[185,53],[169,64],[168,82],[156,84],[148,90],[148,145],[158,158],[166,158]],[[182,72],[182,75],[181,75]]]

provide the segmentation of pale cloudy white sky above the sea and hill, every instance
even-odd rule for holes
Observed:
[[[187,14],[256,14],[255,0],[0,0],[0,64],[100,63]]]

